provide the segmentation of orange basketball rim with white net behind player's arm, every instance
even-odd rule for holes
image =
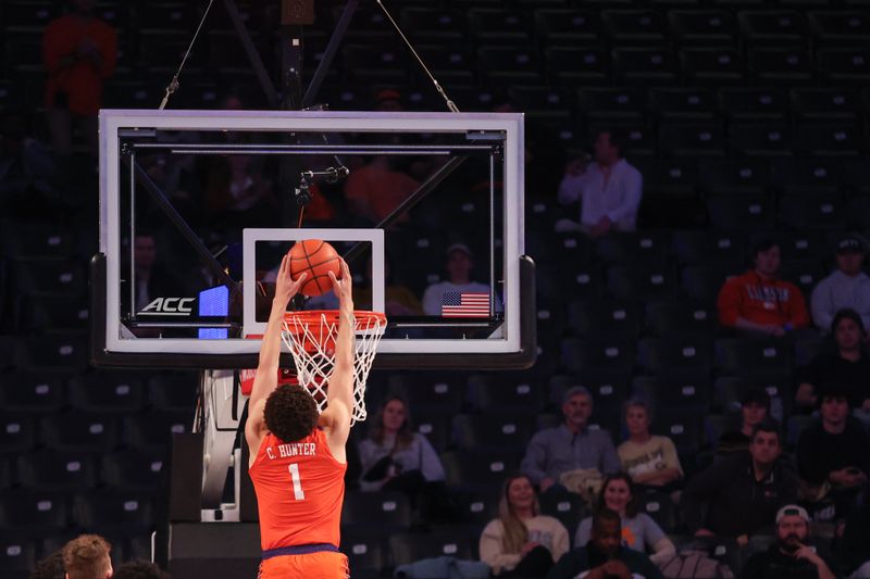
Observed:
[[[335,339],[338,336],[338,311],[287,312],[281,338],[293,354],[297,379],[306,387],[323,412],[326,386],[335,369]],[[372,369],[375,351],[387,327],[380,312],[356,311],[353,355],[353,410],[350,424],[365,419],[365,380]]]

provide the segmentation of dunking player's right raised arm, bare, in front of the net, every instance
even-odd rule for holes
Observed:
[[[341,278],[328,273],[333,290],[338,298],[338,335],[335,339],[335,369],[326,388],[326,400],[335,420],[347,421],[350,426],[350,413],[353,408],[353,354],[355,329],[352,278],[347,263],[341,260]],[[334,414],[335,413],[335,414]],[[340,414],[340,415],[339,415]],[[338,425],[334,425],[338,426]]]

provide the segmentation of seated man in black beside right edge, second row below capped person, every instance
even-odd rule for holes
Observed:
[[[842,519],[852,514],[867,489],[870,441],[849,417],[849,392],[832,385],[821,390],[821,421],[797,441],[797,466],[804,501],[813,505],[815,520]]]

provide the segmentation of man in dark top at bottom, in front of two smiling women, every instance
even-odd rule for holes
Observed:
[[[663,579],[649,557],[622,546],[619,513],[602,508],[592,517],[589,541],[569,551],[550,569],[547,579]]]

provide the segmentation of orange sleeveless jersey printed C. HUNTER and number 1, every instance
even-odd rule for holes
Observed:
[[[345,470],[347,464],[335,460],[319,428],[289,443],[268,433],[248,469],[263,551],[312,543],[337,546]]]

